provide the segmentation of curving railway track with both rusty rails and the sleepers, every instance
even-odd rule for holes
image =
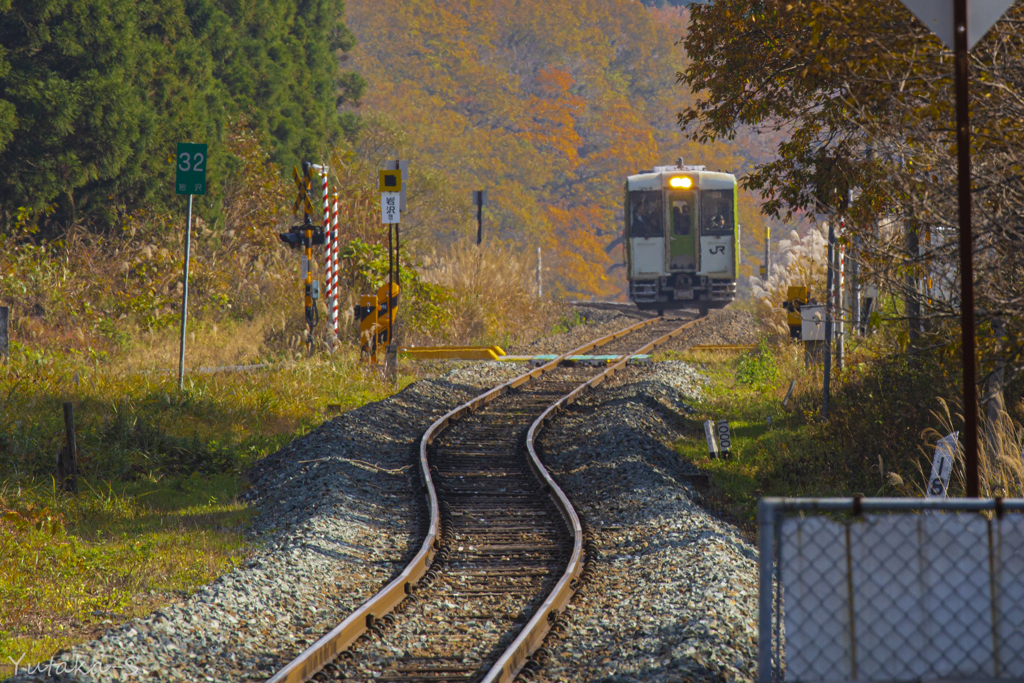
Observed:
[[[269,683],[511,681],[544,660],[572,593],[589,579],[585,529],[538,457],[556,411],[695,321],[654,317],[589,342],[492,389],[424,433],[428,520],[419,552],[380,593]],[[601,348],[603,372],[566,367]]]

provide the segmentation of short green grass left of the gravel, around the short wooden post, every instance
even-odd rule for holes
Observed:
[[[14,344],[0,366],[0,677],[8,657],[46,659],[230,570],[247,552],[245,470],[414,379],[337,353],[178,391],[173,374]],[[53,481],[66,400],[77,496]]]

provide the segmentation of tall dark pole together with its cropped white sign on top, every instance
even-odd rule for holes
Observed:
[[[959,198],[961,335],[964,346],[964,461],[967,496],[978,498],[978,374],[974,343],[974,238],[971,233],[971,118],[968,52],[1014,0],[902,0],[952,48],[956,82],[956,175]]]

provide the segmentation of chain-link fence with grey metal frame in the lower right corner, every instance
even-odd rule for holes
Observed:
[[[1024,500],[764,499],[761,683],[1024,681]]]

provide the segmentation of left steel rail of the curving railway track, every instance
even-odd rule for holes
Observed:
[[[420,546],[420,551],[406,565],[401,573],[385,586],[377,595],[373,596],[355,611],[349,614],[345,621],[331,630],[330,633],[321,637],[316,642],[303,650],[298,656],[292,659],[284,669],[267,680],[267,683],[304,683],[316,675],[324,667],[333,661],[339,654],[348,649],[364,633],[374,626],[374,623],[393,610],[412,592],[415,584],[427,569],[433,560],[434,554],[439,547],[438,537],[440,533],[440,512],[437,503],[437,493],[434,489],[433,478],[430,475],[430,464],[427,459],[427,449],[434,438],[454,420],[472,413],[496,398],[507,393],[511,389],[522,386],[526,382],[541,377],[556,368],[568,356],[586,353],[599,346],[604,346],[616,339],[630,335],[637,330],[649,327],[662,321],[662,317],[650,317],[627,328],[623,328],[610,335],[605,335],[593,341],[587,342],[579,348],[562,353],[558,357],[535,368],[527,373],[519,375],[505,384],[497,386],[475,398],[462,403],[458,408],[445,413],[438,418],[420,439],[420,476],[423,479],[424,487],[427,490],[427,500],[430,508],[430,524],[426,538]],[[624,365],[625,360],[621,361]],[[580,537],[578,537],[579,539]]]

